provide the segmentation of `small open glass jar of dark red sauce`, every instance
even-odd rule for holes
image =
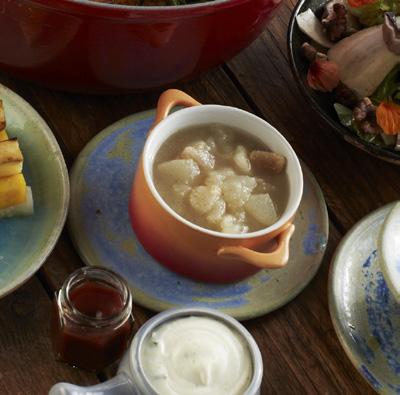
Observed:
[[[116,273],[84,267],[56,292],[53,338],[56,357],[99,371],[120,359],[133,331],[132,296]]]

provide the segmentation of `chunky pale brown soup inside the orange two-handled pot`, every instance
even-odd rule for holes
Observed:
[[[286,208],[286,159],[240,129],[221,124],[183,129],[157,152],[153,179],[164,201],[201,227],[254,232]]]

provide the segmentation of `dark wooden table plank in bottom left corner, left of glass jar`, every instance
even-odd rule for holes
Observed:
[[[98,382],[94,374],[55,362],[51,307],[36,277],[0,301],[0,394],[47,394],[58,381]]]

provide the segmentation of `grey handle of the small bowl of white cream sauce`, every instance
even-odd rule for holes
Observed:
[[[137,395],[136,389],[125,373],[120,373],[111,380],[91,387],[79,387],[68,383],[54,385],[49,395]]]

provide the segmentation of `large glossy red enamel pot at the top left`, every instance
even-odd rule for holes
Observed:
[[[0,0],[0,69],[63,90],[165,86],[231,58],[281,0],[132,7],[88,0]]]

